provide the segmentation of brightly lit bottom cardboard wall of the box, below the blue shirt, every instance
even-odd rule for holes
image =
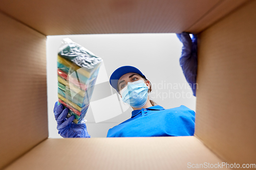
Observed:
[[[49,138],[6,169],[169,170],[187,169],[188,162],[222,161],[195,136]]]

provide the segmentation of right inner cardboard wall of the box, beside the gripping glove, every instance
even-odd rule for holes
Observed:
[[[196,132],[229,162],[256,160],[256,1],[200,34]]]

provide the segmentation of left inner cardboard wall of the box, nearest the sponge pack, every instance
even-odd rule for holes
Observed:
[[[46,37],[0,13],[0,168],[48,137]]]

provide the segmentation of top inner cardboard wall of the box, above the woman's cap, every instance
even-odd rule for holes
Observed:
[[[45,35],[198,33],[245,1],[2,0],[0,9]]]

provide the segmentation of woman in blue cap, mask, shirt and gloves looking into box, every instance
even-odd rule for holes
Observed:
[[[188,38],[188,36],[187,33],[178,35],[181,41],[184,39],[189,41],[190,37]],[[190,61],[189,58],[191,58],[191,49],[188,54],[186,44],[189,43],[183,42],[181,56],[181,59],[186,63],[180,63],[181,66],[186,66]],[[191,48],[191,43],[189,47]],[[195,72],[195,68],[193,66],[193,70],[189,70],[182,67],[187,80],[191,79],[191,75],[193,75],[191,72]],[[191,80],[196,80],[195,74]],[[138,68],[133,66],[117,68],[110,77],[110,84],[120,94],[122,101],[133,108],[133,111],[131,118],[109,129],[107,137],[194,135],[195,112],[183,105],[172,109],[164,109],[151,101],[148,98],[148,92],[152,90],[151,83]],[[63,110],[63,106],[57,106],[57,102],[55,103],[54,114],[57,120],[58,133],[62,137],[91,137],[87,132],[86,124],[72,123],[74,116],[66,119],[68,109]]]

